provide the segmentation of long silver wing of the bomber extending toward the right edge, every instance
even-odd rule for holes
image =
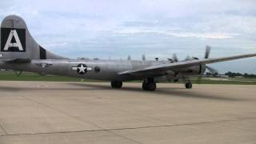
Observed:
[[[202,59],[202,60],[174,62],[174,63],[168,63],[168,64],[162,64],[162,65],[156,65],[156,66],[148,66],[148,67],[144,67],[144,68],[138,69],[138,70],[123,71],[119,74],[133,75],[133,74],[142,74],[142,73],[154,73],[154,72],[159,72],[159,71],[175,70],[175,69],[189,67],[189,66],[197,66],[199,64],[225,62],[225,61],[231,61],[234,59],[250,58],[250,57],[255,57],[255,56],[256,56],[256,54],[242,54],[242,55],[223,57],[223,58],[207,58],[207,59]]]

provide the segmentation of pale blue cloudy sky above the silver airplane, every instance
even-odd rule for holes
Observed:
[[[17,14],[46,49],[69,58],[179,59],[256,53],[255,0],[8,0],[0,19]],[[212,65],[256,74],[256,58]]]

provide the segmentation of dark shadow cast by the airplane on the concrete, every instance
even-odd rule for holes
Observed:
[[[225,94],[222,95],[214,95],[202,93],[202,91],[192,91],[186,90],[185,88],[180,87],[160,87],[156,91],[144,91],[139,86],[134,87],[122,87],[122,89],[113,89],[108,85],[101,85],[97,83],[66,83],[68,85],[76,86],[76,87],[69,87],[69,88],[54,88],[48,86],[41,86],[41,87],[12,87],[12,86],[0,86],[0,93],[1,91],[22,91],[22,90],[126,90],[132,91],[141,94],[158,94],[158,96],[170,96],[170,97],[182,97],[182,98],[201,98],[201,99],[209,99],[209,100],[218,100],[218,101],[246,101],[250,99],[246,98],[226,98]]]

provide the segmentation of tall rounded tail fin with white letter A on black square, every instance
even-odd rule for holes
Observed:
[[[62,59],[39,46],[27,30],[24,20],[16,15],[3,19],[0,36],[0,59]]]

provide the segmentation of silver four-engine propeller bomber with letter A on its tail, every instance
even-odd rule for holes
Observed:
[[[106,80],[111,82],[113,88],[121,88],[122,82],[143,80],[143,90],[150,91],[156,90],[157,82],[179,79],[185,83],[187,89],[191,89],[190,78],[204,74],[206,69],[216,71],[206,64],[256,56],[256,54],[242,54],[209,58],[210,46],[206,46],[205,58],[202,60],[186,58],[178,61],[175,54],[168,61],[64,58],[38,45],[30,35],[24,20],[16,15],[3,19],[0,39],[0,69]]]

